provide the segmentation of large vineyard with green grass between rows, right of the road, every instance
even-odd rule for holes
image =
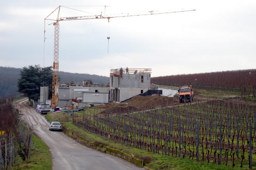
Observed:
[[[76,113],[73,123],[116,143],[155,154],[256,168],[253,102],[226,99],[112,113]]]

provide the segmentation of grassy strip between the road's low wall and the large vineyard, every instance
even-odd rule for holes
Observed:
[[[70,121],[70,116],[67,115],[67,113],[53,113],[49,112],[46,115],[47,119],[49,121],[60,121],[63,126],[66,128],[69,128],[73,131],[76,131],[78,134],[83,135],[90,141],[99,141],[101,143],[105,143],[107,146],[110,146],[112,148],[124,151],[128,154],[135,155],[136,158],[140,156],[149,156],[151,157],[151,161],[146,164],[148,168],[151,169],[230,169],[231,164],[228,164],[228,166],[225,165],[216,165],[213,163],[207,163],[207,162],[197,162],[195,160],[188,160],[187,158],[173,158],[168,157],[162,154],[153,154],[144,150],[136,149],[130,146],[125,146],[124,144],[120,143],[114,143],[113,141],[110,141],[108,139],[101,138],[98,135],[94,135],[91,133],[88,133],[84,131],[81,128],[76,127],[72,124]],[[194,158],[195,159],[195,158]],[[247,166],[244,166],[244,168],[247,168]],[[236,163],[235,168],[233,169],[241,169],[238,163]]]

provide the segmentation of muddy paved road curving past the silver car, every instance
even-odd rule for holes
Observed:
[[[49,131],[48,122],[35,109],[25,104],[28,99],[19,101],[23,119],[32,131],[49,147],[53,158],[53,169],[141,169],[121,158],[114,157],[77,143],[63,132]]]

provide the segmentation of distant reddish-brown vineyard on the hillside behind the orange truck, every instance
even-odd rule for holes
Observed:
[[[192,85],[194,89],[241,94],[256,99],[256,69],[152,77],[158,85]]]

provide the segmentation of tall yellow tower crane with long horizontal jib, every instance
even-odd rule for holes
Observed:
[[[166,11],[166,12],[141,12],[139,14],[116,14],[113,16],[103,16],[102,12],[99,15],[91,15],[91,16],[73,16],[73,17],[60,17],[60,7],[58,6],[53,12],[58,11],[57,19],[48,19],[48,17],[53,13],[50,13],[44,19],[44,41],[45,41],[45,20],[53,20],[52,23],[54,26],[54,52],[53,52],[53,66],[52,66],[52,105],[51,107],[58,106],[59,96],[59,30],[60,30],[60,21],[67,21],[67,20],[83,20],[83,19],[109,19],[111,18],[119,18],[119,17],[132,17],[132,16],[143,16],[143,15],[156,15],[156,14],[167,14],[167,13],[176,13],[176,12],[188,12],[188,11],[196,11],[196,10],[184,10],[184,11]],[[105,6],[106,7],[106,6]],[[51,25],[51,24],[49,24]],[[108,37],[109,40],[109,37]]]

